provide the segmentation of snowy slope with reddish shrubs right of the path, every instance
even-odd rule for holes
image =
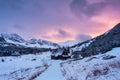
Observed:
[[[66,80],[120,80],[120,48],[61,63],[61,68]]]

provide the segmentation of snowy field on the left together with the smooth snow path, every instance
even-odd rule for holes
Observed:
[[[61,60],[51,60],[50,52],[18,57],[0,57],[0,80],[65,80]]]

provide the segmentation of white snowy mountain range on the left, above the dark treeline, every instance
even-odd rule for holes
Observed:
[[[21,45],[24,47],[35,47],[35,48],[58,48],[59,45],[57,43],[53,43],[46,40],[41,39],[31,39],[31,40],[24,40],[17,34],[0,34],[0,41],[5,40],[7,43],[12,43],[16,45]]]

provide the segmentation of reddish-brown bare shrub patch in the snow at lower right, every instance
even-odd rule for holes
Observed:
[[[110,68],[120,68],[120,61],[114,60],[106,63],[97,63],[93,66],[93,69],[87,74],[86,80],[92,76],[106,75]]]

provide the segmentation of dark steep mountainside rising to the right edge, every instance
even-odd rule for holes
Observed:
[[[89,40],[89,42],[90,41],[92,41],[90,45],[79,50],[79,54],[82,57],[105,53],[112,48],[120,47],[120,23],[113,27],[113,29],[94,39]]]

